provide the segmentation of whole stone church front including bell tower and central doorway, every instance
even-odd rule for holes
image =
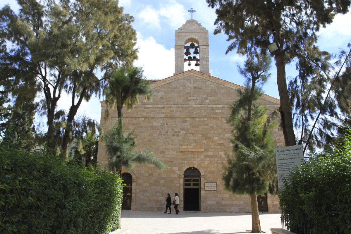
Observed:
[[[151,84],[152,100],[140,99],[133,109],[123,112],[125,132],[134,130],[137,150],[149,148],[155,158],[169,168],[141,164],[122,170],[125,180],[123,209],[164,211],[166,194],[180,197],[180,211],[250,212],[249,195],[224,189],[222,177],[226,155],[232,153],[231,126],[226,122],[237,90],[244,87],[210,75],[208,31],[196,20],[188,20],[176,31],[176,61],[173,76]],[[187,49],[198,51],[189,58]],[[197,50],[196,50],[197,49]],[[196,57],[196,58],[194,58]],[[197,62],[199,71],[184,72],[184,62]],[[279,108],[279,99],[263,94],[259,100],[270,110]],[[101,113],[108,108],[101,102]],[[117,111],[101,116],[104,131],[117,122]],[[283,146],[283,134],[273,136]],[[102,168],[108,157],[99,142],[98,161]],[[261,211],[278,212],[276,196],[258,195]],[[172,208],[173,209],[173,208]],[[174,212],[174,210],[172,211]]]

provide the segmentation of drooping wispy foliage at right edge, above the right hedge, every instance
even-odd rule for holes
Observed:
[[[351,50],[338,56],[326,54],[297,64],[299,74],[290,80],[290,98],[294,103],[294,127],[300,130],[299,144],[310,153],[323,148],[336,137],[341,123],[351,118]],[[318,55],[315,55],[318,56]],[[329,58],[337,59],[331,64]]]

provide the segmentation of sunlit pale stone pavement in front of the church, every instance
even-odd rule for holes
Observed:
[[[262,231],[266,233],[271,233],[271,228],[282,228],[280,213],[260,212],[260,223]],[[174,213],[122,210],[121,228],[129,229],[128,234],[249,233],[251,213],[180,212],[175,215]]]

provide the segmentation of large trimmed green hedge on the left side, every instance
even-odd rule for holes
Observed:
[[[122,182],[42,152],[0,147],[0,233],[109,233]]]

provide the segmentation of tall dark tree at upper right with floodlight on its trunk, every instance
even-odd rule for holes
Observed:
[[[285,146],[296,145],[292,101],[286,82],[285,65],[297,60],[306,66],[323,63],[325,52],[315,46],[316,32],[333,21],[335,14],[346,14],[350,0],[331,1],[257,1],[257,0],[206,0],[217,7],[217,25],[214,33],[222,30],[232,44],[226,53],[237,49],[240,54],[264,54],[268,45],[276,42],[279,50],[274,54],[277,68],[277,85],[280,97],[280,117]],[[313,70],[307,77],[313,77]],[[306,76],[302,76],[304,78]],[[322,81],[322,80],[320,80]],[[305,81],[303,81],[305,82]],[[324,82],[325,84],[325,82]]]

